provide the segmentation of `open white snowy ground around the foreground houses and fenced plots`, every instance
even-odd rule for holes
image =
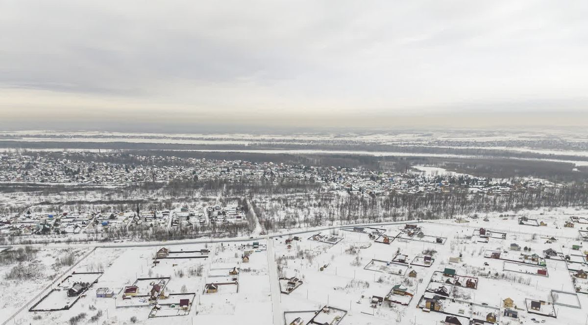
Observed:
[[[522,215],[543,221],[547,226],[519,225],[518,218]],[[439,286],[446,286],[451,299],[445,300],[442,311],[457,314],[459,317],[482,317],[496,311],[502,324],[512,319],[502,316],[502,300],[510,297],[519,309],[519,315],[523,323],[530,324],[531,318],[545,319],[546,324],[579,324],[586,319],[588,313],[588,295],[577,294],[577,302],[580,308],[563,306],[562,304],[575,305],[575,288],[570,275],[573,266],[588,270],[582,259],[576,257],[576,263],[566,263],[561,258],[546,259],[546,269],[549,277],[537,276],[534,272],[514,272],[512,268],[503,270],[505,263],[517,268],[530,268],[537,270],[537,265],[526,265],[508,262],[503,259],[488,258],[487,252],[502,252],[501,257],[520,262],[519,256],[525,254],[537,254],[543,257],[543,251],[554,249],[562,255],[582,255],[584,245],[579,238],[579,230],[586,225],[575,224],[574,228],[564,228],[565,221],[570,216],[588,216],[586,210],[572,208],[521,211],[517,215],[500,216],[489,214],[489,221],[483,221],[483,217],[467,218],[469,222],[457,223],[454,220],[422,222],[420,227],[426,234],[447,238],[444,244],[425,241],[413,241],[403,239],[392,241],[390,245],[374,242],[368,233],[342,231],[333,229],[329,233],[342,238],[336,244],[309,240],[310,236],[318,233],[309,229],[308,232],[298,234],[301,241],[292,241],[288,248],[286,239],[282,237],[270,237],[267,240],[258,240],[259,248],[253,248],[251,241],[223,242],[223,243],[191,243],[170,246],[172,250],[199,250],[210,249],[209,258],[206,259],[160,259],[159,264],[153,266],[153,254],[162,247],[129,247],[129,248],[98,248],[79,265],[74,267],[76,272],[103,272],[98,283],[88,290],[85,297],[70,309],[62,312],[28,312],[19,313],[14,324],[68,324],[69,319],[85,313],[85,322],[91,323],[90,318],[96,316],[96,321],[102,324],[130,323],[131,316],[137,317],[138,324],[168,324],[173,321],[176,324],[193,323],[240,323],[240,324],[276,324],[283,320],[293,320],[302,317],[305,322],[314,316],[313,311],[322,309],[323,306],[332,306],[347,313],[340,322],[347,324],[435,324],[445,320],[443,313],[424,313],[415,308],[427,287],[436,290]],[[403,225],[378,225],[377,228],[385,229],[385,233],[396,236]],[[479,242],[479,235],[473,235],[480,228],[488,231],[505,232],[506,238],[490,238],[487,243]],[[556,241],[548,240],[554,237]],[[270,241],[271,243],[268,243]],[[517,243],[520,247],[530,250],[510,250],[510,245]],[[166,245],[165,243],[163,245]],[[573,250],[572,245],[582,245],[579,250]],[[55,253],[47,246],[38,253],[46,258],[55,260]],[[242,260],[243,253],[250,251],[249,262]],[[433,252],[435,251],[435,252]],[[82,255],[84,251],[78,252]],[[507,252],[507,253],[505,253]],[[365,269],[372,260],[379,262],[380,268],[385,268],[387,262],[390,265],[397,254],[407,255],[407,263],[415,256],[423,256],[433,253],[435,259],[430,268],[406,264],[406,272],[403,275],[389,274],[387,272],[375,272]],[[45,256],[47,255],[47,256]],[[449,258],[459,258],[457,263],[449,263]],[[572,256],[570,256],[572,259]],[[387,261],[387,262],[386,262]],[[48,262],[47,262],[48,263]],[[231,286],[231,290],[219,287],[217,293],[203,294],[204,286],[210,282],[220,282],[232,279],[228,270],[239,269],[238,285]],[[3,268],[3,272],[6,272]],[[322,268],[322,270],[321,270]],[[448,277],[442,276],[445,268],[455,269],[456,275],[465,281],[467,276],[477,277],[477,289],[453,285],[453,282],[445,283]],[[58,269],[59,273],[66,268]],[[416,277],[409,277],[410,271],[415,270]],[[226,275],[225,275],[226,272]],[[70,274],[71,272],[67,273]],[[392,272],[397,273],[397,272]],[[121,307],[122,293],[125,286],[129,286],[141,277],[170,277],[166,290],[169,293],[194,294],[192,306],[186,316],[149,318],[152,306],[146,302],[143,307]],[[280,294],[278,277],[296,276],[303,284],[290,294]],[[455,279],[455,278],[454,278]],[[61,279],[56,279],[61,281]],[[432,280],[438,282],[431,282]],[[586,282],[585,280],[582,280]],[[16,308],[28,301],[28,299],[41,292],[43,287],[51,283],[39,279],[35,286],[21,284],[15,289],[9,288],[10,295],[2,295],[2,304],[8,312],[3,317],[8,318]],[[141,282],[142,283],[142,282]],[[18,286],[18,283],[16,284]],[[392,287],[403,285],[407,292],[413,294],[413,299],[403,297],[395,299],[399,301],[410,300],[409,306],[400,304],[372,304],[373,296],[386,297]],[[97,298],[95,295],[98,287],[109,287],[114,290],[114,298]],[[18,289],[16,289],[18,288]],[[19,298],[20,303],[15,303],[13,296],[18,297],[19,289],[24,291]],[[28,291],[27,291],[28,290]],[[141,292],[149,290],[149,283],[141,284]],[[557,290],[557,303],[553,305],[552,290]],[[277,293],[276,293],[277,292]],[[571,294],[570,294],[571,293]],[[5,298],[8,297],[8,298]],[[168,302],[159,300],[161,305],[171,303],[175,298],[168,298]],[[177,299],[176,299],[177,300]],[[545,310],[554,309],[557,319],[553,317],[539,316],[526,312],[526,300],[543,300]],[[463,303],[468,302],[468,303]],[[472,304],[470,305],[469,302]],[[119,308],[117,308],[117,306]],[[554,307],[554,308],[553,308]],[[102,311],[99,313],[99,311]],[[290,313],[292,312],[292,313]],[[166,313],[177,314],[177,310],[164,306],[160,315]],[[286,313],[286,314],[284,314]],[[98,316],[98,314],[100,316]],[[4,316],[6,315],[6,316]],[[297,315],[297,316],[296,316]],[[296,317],[293,317],[296,316]],[[82,323],[84,323],[82,321]]]

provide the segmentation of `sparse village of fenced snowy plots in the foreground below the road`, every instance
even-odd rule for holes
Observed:
[[[88,245],[35,299],[16,294],[25,308],[12,322],[83,314],[113,324],[170,316],[178,324],[577,324],[588,306],[586,216],[526,211],[249,240]]]

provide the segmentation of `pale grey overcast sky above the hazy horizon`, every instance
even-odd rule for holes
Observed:
[[[587,13],[586,0],[2,0],[0,126],[588,124]]]

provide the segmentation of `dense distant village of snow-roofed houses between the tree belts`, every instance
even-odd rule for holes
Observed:
[[[430,168],[404,172],[372,171],[365,168],[315,167],[283,163],[252,163],[235,160],[139,156],[126,157],[135,164],[94,162],[109,161],[117,154],[96,154],[88,160],[72,160],[66,151],[59,155],[0,154],[0,182],[39,182],[49,184],[122,185],[133,182],[170,180],[302,180],[323,184],[332,191],[349,194],[388,195],[391,192],[424,194],[427,192],[466,192],[487,195],[513,191],[542,191],[553,187],[540,180],[490,180],[472,175],[443,172],[426,173]],[[92,153],[87,153],[91,155]],[[139,164],[141,163],[141,164]],[[420,168],[420,169],[419,169]]]

